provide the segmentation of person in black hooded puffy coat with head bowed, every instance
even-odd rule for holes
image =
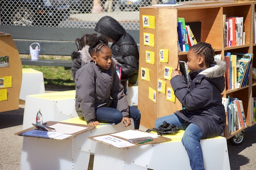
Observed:
[[[112,17],[102,17],[94,31],[108,37],[111,46],[112,56],[121,67],[122,79],[129,79],[129,85],[137,82],[139,71],[139,51],[133,37]],[[122,81],[121,81],[122,82]]]

